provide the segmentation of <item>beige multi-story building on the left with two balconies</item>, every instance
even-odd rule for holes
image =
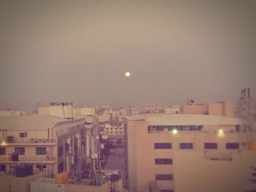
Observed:
[[[78,141],[83,137],[84,124],[83,117],[0,117],[1,171],[12,172],[17,163],[33,164],[34,169],[46,169],[51,174],[69,169],[69,163],[77,162],[83,150]]]

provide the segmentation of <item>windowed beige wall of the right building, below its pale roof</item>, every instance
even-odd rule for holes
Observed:
[[[208,161],[230,162],[235,161],[232,154],[242,149],[235,125],[148,126],[146,120],[129,120],[126,131],[129,190],[133,191],[149,191],[148,183],[154,180],[160,191],[176,191],[177,152],[199,151]],[[189,159],[184,161],[190,164]]]

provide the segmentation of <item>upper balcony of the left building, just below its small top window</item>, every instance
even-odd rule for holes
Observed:
[[[7,137],[0,139],[0,142],[5,141],[7,145],[55,145],[55,139],[49,138],[15,138]]]

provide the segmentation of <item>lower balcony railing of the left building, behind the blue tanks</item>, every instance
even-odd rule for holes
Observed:
[[[0,162],[1,161],[12,161],[11,155],[0,155]],[[56,157],[51,155],[19,155],[18,156],[18,162],[22,161],[56,161]]]

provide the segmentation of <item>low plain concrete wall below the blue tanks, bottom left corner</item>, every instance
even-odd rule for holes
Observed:
[[[0,192],[29,192],[30,183],[43,177],[43,174],[34,174],[28,177],[13,177],[0,174]]]

